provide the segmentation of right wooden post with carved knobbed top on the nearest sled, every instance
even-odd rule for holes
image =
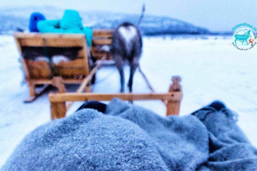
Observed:
[[[182,92],[182,87],[179,84],[181,82],[180,76],[172,76],[171,80],[173,83],[170,85],[169,92]],[[178,115],[179,109],[180,109],[180,101],[168,100],[166,116]]]

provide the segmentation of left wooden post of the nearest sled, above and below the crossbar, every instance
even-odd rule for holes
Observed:
[[[52,85],[58,88],[58,93],[65,93],[65,87],[61,76],[55,76],[52,79]],[[50,103],[51,105],[51,119],[59,119],[66,116],[65,102]]]

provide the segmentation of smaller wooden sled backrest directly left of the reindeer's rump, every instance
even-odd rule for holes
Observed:
[[[93,40],[91,46],[92,54],[101,60],[103,56],[106,55],[106,60],[112,60],[112,55],[110,52],[101,50],[102,46],[110,46],[113,38],[113,30],[108,29],[94,29],[93,30]]]

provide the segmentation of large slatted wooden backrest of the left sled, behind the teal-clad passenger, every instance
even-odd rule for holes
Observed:
[[[45,48],[77,48],[77,58],[69,62],[61,61],[52,63],[55,74],[65,78],[73,78],[75,75],[85,77],[89,74],[88,47],[85,34],[42,34],[42,33],[16,33],[14,34],[17,47],[21,56],[24,49],[37,49],[38,52]],[[41,50],[42,49],[42,50]],[[60,50],[60,49],[59,49]],[[44,55],[42,55],[44,56]],[[51,70],[46,61],[24,60],[23,68],[27,79],[50,79]],[[26,71],[27,70],[27,71]]]

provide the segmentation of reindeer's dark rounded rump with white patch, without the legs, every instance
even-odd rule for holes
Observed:
[[[111,53],[123,57],[123,60],[131,61],[142,52],[142,37],[138,28],[132,23],[122,23],[113,32]]]

